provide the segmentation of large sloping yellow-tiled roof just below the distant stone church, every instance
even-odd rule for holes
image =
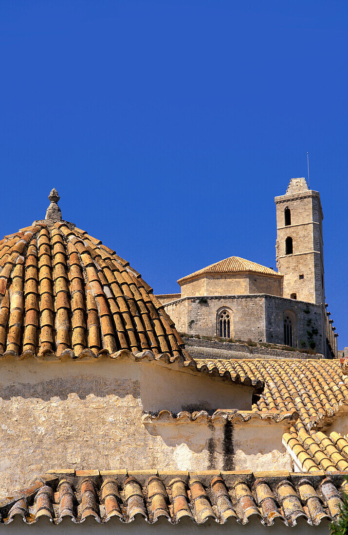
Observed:
[[[229,371],[231,378],[264,381],[256,411],[296,410],[301,422],[312,429],[324,417],[348,404],[348,377],[335,360],[196,360],[198,368]]]

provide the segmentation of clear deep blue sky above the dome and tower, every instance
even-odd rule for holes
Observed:
[[[156,293],[236,255],[275,268],[274,196],[306,175],[348,345],[347,2],[2,0],[1,234],[44,217]]]

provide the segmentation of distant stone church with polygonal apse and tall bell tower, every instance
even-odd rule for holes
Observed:
[[[312,349],[337,358],[325,303],[323,212],[304,178],[275,197],[277,271],[236,256],[178,280],[157,295],[180,333]]]

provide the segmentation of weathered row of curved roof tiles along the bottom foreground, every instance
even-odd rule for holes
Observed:
[[[289,472],[157,472],[126,470],[59,471],[0,504],[1,523],[18,515],[28,524],[46,516],[54,524],[93,517],[124,523],[135,515],[153,524],[161,516],[172,524],[188,517],[197,524],[247,524],[256,519],[272,525],[278,519],[294,526],[335,519],[342,503],[344,473],[327,477]],[[248,530],[248,528],[246,528]]]

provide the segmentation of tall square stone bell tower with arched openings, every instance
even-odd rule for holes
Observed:
[[[325,304],[320,195],[305,178],[292,178],[285,195],[275,197],[277,268],[284,275],[283,296]]]

